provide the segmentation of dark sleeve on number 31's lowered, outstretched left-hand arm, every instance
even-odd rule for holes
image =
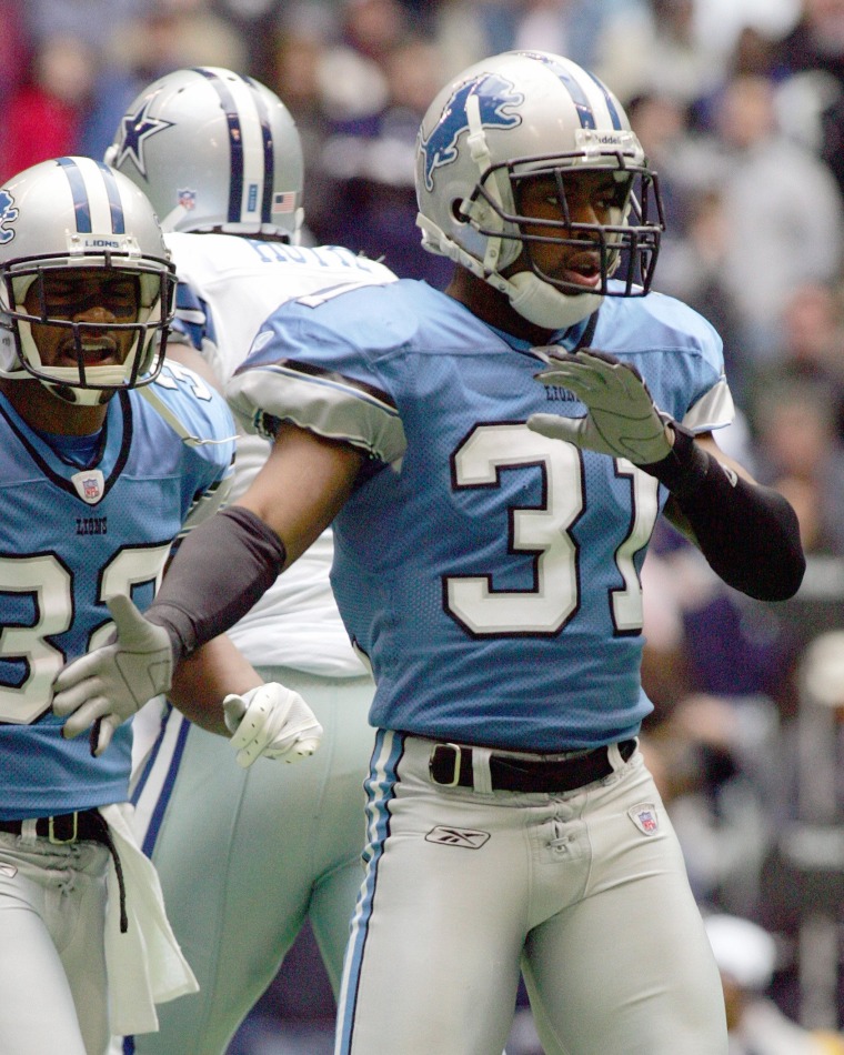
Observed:
[[[179,546],[147,619],[163,626],[173,662],[245,615],[284,566],[284,546],[250,510],[232,505],[195,528]]]

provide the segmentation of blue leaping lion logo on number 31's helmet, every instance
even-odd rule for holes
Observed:
[[[524,96],[515,91],[514,86],[498,73],[466,81],[455,89],[443,108],[442,117],[434,125],[428,139],[420,140],[425,155],[425,187],[433,190],[435,169],[451,164],[458,158],[458,139],[469,131],[466,102],[476,97],[482,128],[509,129],[522,123],[522,119],[512,110],[524,102]]]

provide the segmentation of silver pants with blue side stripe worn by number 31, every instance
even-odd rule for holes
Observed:
[[[432,746],[378,735],[336,1055],[501,1055],[520,969],[546,1055],[725,1055],[717,968],[642,755],[611,747],[614,772],[567,794],[483,794],[431,783]]]

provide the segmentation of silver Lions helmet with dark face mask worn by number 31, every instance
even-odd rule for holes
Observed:
[[[611,169],[619,205],[610,223],[542,221],[559,235],[525,233],[520,182],[553,178],[567,218],[564,180]],[[504,292],[525,319],[563,329],[585,319],[603,297],[636,297],[653,278],[664,230],[656,175],[619,100],[569,59],[511,51],[470,67],[434,99],[416,141],[418,225],[422,244],[450,257]],[[536,241],[600,249],[595,292],[544,273]],[[502,271],[524,251],[524,268]],[[615,274],[620,281],[610,283]]]

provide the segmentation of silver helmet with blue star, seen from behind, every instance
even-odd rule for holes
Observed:
[[[164,232],[299,241],[299,132],[281,99],[251,77],[198,67],[159,78],[129,105],[105,161],[145,192]]]

